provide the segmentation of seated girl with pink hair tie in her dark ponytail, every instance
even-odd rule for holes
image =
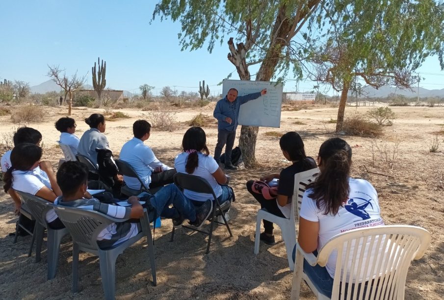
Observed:
[[[191,127],[183,135],[183,152],[174,160],[174,166],[179,173],[191,174],[206,179],[213,188],[214,194],[222,204],[233,197],[233,189],[227,183],[227,177],[219,164],[209,155],[207,136],[200,127]],[[211,194],[196,193],[184,190],[183,194],[195,206],[200,206],[208,199],[214,199]]]

